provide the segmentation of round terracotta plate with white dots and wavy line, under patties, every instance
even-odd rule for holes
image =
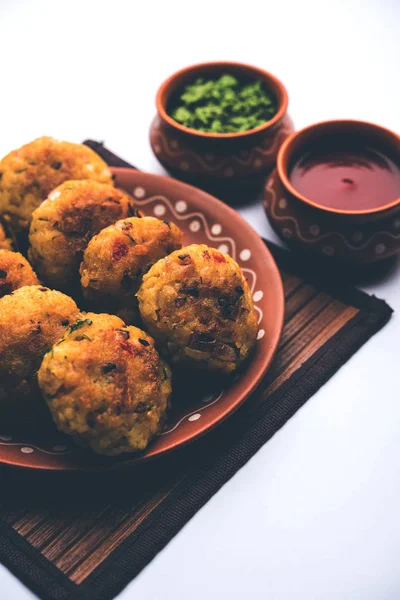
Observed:
[[[255,353],[239,375],[221,383],[202,377],[175,388],[165,431],[140,455],[95,456],[54,433],[21,439],[0,425],[0,462],[49,470],[103,470],[132,465],[191,442],[215,427],[249,396],[264,376],[278,346],[284,300],[277,266],[265,244],[240,215],[216,198],[168,177],[114,169],[116,185],[136,199],[146,215],[174,221],[187,244],[205,243],[229,253],[248,279],[258,315]]]

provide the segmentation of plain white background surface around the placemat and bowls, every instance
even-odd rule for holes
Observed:
[[[107,145],[162,172],[159,84],[204,60],[255,64],[297,128],[400,132],[398,0],[0,0],[0,155],[41,135]],[[274,239],[260,206],[242,211]],[[400,310],[400,269],[366,286]],[[184,527],[123,600],[400,598],[398,316]],[[0,567],[1,600],[32,594]]]

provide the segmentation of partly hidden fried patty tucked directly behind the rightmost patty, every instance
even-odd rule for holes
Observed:
[[[90,307],[118,314],[126,323],[137,321],[135,294],[143,274],[181,248],[182,241],[179,227],[154,217],[131,217],[100,231],[89,242],[80,267]]]

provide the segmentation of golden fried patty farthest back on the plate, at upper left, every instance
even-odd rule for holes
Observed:
[[[0,161],[0,213],[15,232],[27,231],[32,212],[68,179],[112,183],[111,171],[96,152],[83,144],[41,137],[10,152]]]

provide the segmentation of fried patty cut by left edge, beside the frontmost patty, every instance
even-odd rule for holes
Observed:
[[[79,314],[69,296],[40,285],[0,299],[0,414],[35,412],[37,370],[44,354]],[[38,399],[39,395],[39,399]]]

